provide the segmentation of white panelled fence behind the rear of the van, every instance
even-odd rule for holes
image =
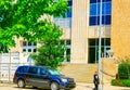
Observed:
[[[0,80],[12,81],[14,73],[20,65],[28,65],[28,54],[10,52],[0,54]]]

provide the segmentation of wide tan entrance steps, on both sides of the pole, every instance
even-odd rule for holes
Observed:
[[[103,68],[102,68],[103,64]],[[64,64],[58,68],[64,75],[75,78],[77,82],[93,82],[93,74],[98,70],[98,64]],[[101,63],[100,82],[109,83],[117,73],[117,66],[105,60]]]

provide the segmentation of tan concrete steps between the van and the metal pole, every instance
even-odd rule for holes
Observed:
[[[93,82],[93,74],[98,69],[96,64],[64,64],[60,70],[78,82]]]

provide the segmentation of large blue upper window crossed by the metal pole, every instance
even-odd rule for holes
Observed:
[[[89,25],[100,25],[100,0],[90,0],[90,20]],[[102,2],[102,24],[110,25],[112,2],[103,0]]]

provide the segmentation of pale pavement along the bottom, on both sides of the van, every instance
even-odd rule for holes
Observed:
[[[77,82],[77,86],[73,90],[93,90],[93,83],[82,83],[82,82]],[[114,87],[108,83],[104,85],[103,87],[100,86],[100,90],[130,90],[130,88],[125,88],[125,87]],[[14,83],[0,83],[0,90],[21,90],[17,88],[16,85]],[[31,87],[26,87],[22,90],[46,90],[46,89],[32,89]]]

